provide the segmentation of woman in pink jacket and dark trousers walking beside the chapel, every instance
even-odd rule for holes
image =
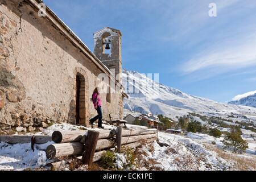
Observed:
[[[102,110],[101,110],[101,97],[100,93],[98,92],[98,88],[95,88],[92,94],[92,101],[94,108],[97,110],[98,115],[96,117],[90,119],[90,124],[93,125],[93,123],[98,119],[98,127],[102,128]]]

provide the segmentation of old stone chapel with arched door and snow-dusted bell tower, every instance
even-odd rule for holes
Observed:
[[[121,32],[95,32],[92,53],[40,3],[0,0],[0,133],[40,130],[52,122],[88,125],[97,114],[90,97],[102,78],[103,119],[122,119],[127,95],[120,76]]]

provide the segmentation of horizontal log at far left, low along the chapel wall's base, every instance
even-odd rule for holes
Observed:
[[[31,135],[0,135],[0,142],[6,142],[10,144],[15,143],[31,143]],[[35,136],[36,144],[43,144],[51,142],[52,138],[50,136],[38,135]]]

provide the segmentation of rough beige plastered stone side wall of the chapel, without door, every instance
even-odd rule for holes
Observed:
[[[102,71],[28,1],[0,3],[0,134],[75,123],[77,74],[87,124],[96,115],[90,97]],[[122,94],[111,98],[101,94],[106,120],[109,113],[122,117]]]

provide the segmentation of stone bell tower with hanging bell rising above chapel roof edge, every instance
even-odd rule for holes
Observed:
[[[94,32],[94,55],[108,67],[117,80],[121,81],[122,74],[122,33],[114,28],[105,27]]]

